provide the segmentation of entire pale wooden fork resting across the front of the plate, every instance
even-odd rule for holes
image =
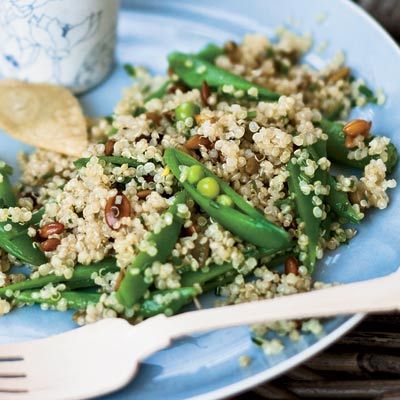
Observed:
[[[274,320],[400,309],[400,272],[272,300],[158,315],[136,326],[106,319],[60,335],[0,346],[2,400],[88,399],[125,386],[139,362],[195,332]]]

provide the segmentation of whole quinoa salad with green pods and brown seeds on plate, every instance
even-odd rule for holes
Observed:
[[[201,307],[210,291],[223,305],[324,286],[318,260],[388,206],[397,150],[371,121],[348,119],[383,93],[341,55],[302,64],[310,38],[278,36],[174,52],[161,77],[127,65],[132,86],[88,122],[80,158],[20,154],[14,186],[0,161],[1,315],[40,304],[75,310],[79,325],[138,323]],[[297,340],[321,329],[253,327],[267,354],[282,346],[269,330]]]

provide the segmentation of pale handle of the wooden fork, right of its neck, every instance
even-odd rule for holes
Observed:
[[[399,270],[400,271],[400,270]],[[307,293],[168,318],[171,338],[238,325],[400,309],[400,272]]]

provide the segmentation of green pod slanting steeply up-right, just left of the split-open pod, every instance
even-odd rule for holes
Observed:
[[[117,298],[124,306],[131,307],[137,303],[150,286],[150,282],[144,279],[144,270],[151,266],[154,261],[163,263],[170,256],[178,241],[183,223],[182,218],[178,215],[178,206],[185,204],[185,202],[186,194],[184,192],[178,193],[174,203],[164,214],[164,216],[172,217],[171,223],[162,228],[159,233],[151,234],[147,240],[149,244],[155,247],[156,254],[150,255],[146,251],[141,251],[127,268],[117,291]]]

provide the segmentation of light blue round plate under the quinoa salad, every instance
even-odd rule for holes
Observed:
[[[323,22],[318,18],[321,13],[326,16]],[[310,32],[317,44],[329,43],[323,53],[319,53],[315,45],[305,62],[320,68],[343,49],[356,75],[364,77],[371,87],[384,89],[388,100],[383,107],[369,105],[355,110],[355,115],[373,120],[374,131],[390,136],[400,148],[399,49],[370,17],[346,0],[125,2],[120,15],[118,61],[145,65],[154,72],[163,73],[166,55],[174,49],[194,51],[209,41],[240,40],[247,32],[261,32],[272,37],[279,25]],[[110,113],[122,88],[129,83],[130,79],[117,68],[106,82],[82,97],[86,111],[92,115]],[[27,147],[0,134],[1,159],[15,165],[16,152],[21,149]],[[400,180],[398,169],[395,175]],[[348,246],[328,254],[319,263],[318,279],[351,282],[396,269],[400,264],[399,191],[393,190],[391,198],[388,209],[368,214],[359,234]],[[191,336],[147,359],[127,388],[106,398],[222,398],[303,362],[361,319],[362,315],[331,319],[324,323],[322,337],[304,336],[297,343],[287,343],[281,354],[272,357],[264,356],[252,344],[247,327]],[[40,338],[74,327],[70,313],[20,309],[0,319],[0,342]],[[110,338],[110,346],[114,340],[116,338]],[[239,366],[241,355],[252,358],[248,368]],[[105,368],[118,366],[106,365]]]

